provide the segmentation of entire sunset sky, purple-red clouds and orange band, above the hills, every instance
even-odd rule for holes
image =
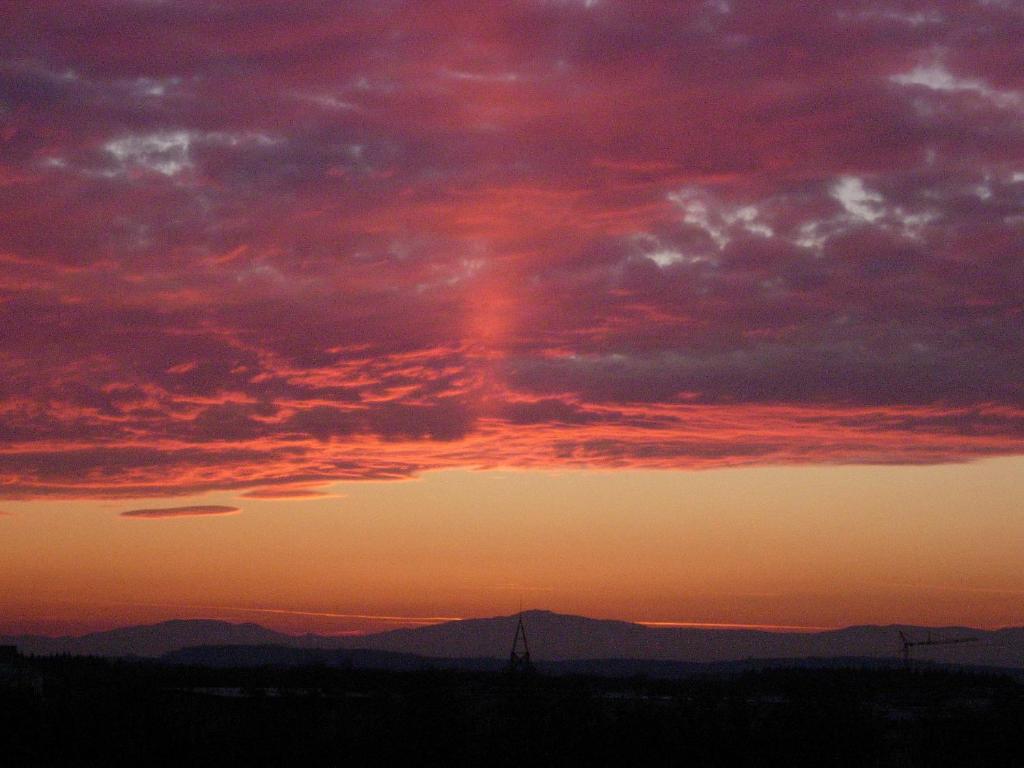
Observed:
[[[1024,624],[1015,0],[0,7],[0,631]]]

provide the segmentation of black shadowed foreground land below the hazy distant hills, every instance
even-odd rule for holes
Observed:
[[[944,670],[685,680],[23,660],[0,763],[1024,765],[1024,685]]]

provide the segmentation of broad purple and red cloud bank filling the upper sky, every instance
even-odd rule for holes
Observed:
[[[1024,451],[1012,4],[3,16],[0,497]]]

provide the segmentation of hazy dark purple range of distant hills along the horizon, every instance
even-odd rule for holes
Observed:
[[[915,648],[914,657],[949,664],[1024,668],[1024,628],[994,632],[964,627],[865,626],[817,633],[754,630],[648,628],[629,622],[565,615],[546,610],[523,614],[532,656],[538,662],[646,659],[720,663],[742,659],[797,659],[899,655],[898,631],[911,638],[972,636],[968,645]],[[173,621],[128,627],[81,637],[0,637],[24,653],[103,656],[161,656],[195,646],[279,646],[364,649],[435,659],[507,657],[517,614],[471,618],[359,637],[285,635],[256,624],[210,620]]]

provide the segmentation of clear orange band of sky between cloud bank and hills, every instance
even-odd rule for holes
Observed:
[[[120,517],[153,500],[9,503],[0,632],[202,616],[365,633],[520,602],[652,627],[1020,625],[1021,476],[1020,459],[445,470],[338,483],[337,497],[174,503],[243,508],[229,516]]]

